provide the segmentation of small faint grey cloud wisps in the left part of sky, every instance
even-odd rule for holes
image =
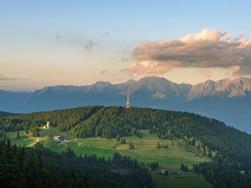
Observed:
[[[59,43],[80,47],[87,51],[93,50],[93,48],[97,45],[97,43],[91,39],[83,39],[82,37],[69,37],[68,38],[61,34],[56,34],[56,40]]]

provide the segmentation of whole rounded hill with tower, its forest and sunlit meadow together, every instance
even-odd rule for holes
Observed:
[[[43,129],[47,121],[50,128]],[[172,187],[200,187],[202,182],[206,186],[197,173],[215,187],[251,185],[251,136],[196,114],[98,106],[2,117],[0,126],[17,145],[39,141],[56,152],[71,148],[78,155],[107,159],[119,152],[148,165],[157,162],[159,167],[151,171],[157,187],[163,182]],[[67,143],[55,142],[56,135]],[[189,171],[180,171],[181,164]],[[159,175],[160,169],[168,169],[169,176]]]

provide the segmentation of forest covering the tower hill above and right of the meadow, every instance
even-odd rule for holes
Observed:
[[[196,148],[201,155],[212,158],[213,163],[195,165],[194,170],[204,174],[215,187],[251,185],[251,136],[215,119],[186,112],[85,107],[3,117],[0,126],[2,131],[24,129],[37,134],[47,121],[77,138],[140,137],[140,130],[148,129],[160,139],[179,140],[187,148]]]

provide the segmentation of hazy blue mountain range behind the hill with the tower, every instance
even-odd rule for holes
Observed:
[[[251,132],[251,78],[176,84],[145,77],[120,84],[53,86],[35,92],[0,90],[0,111],[33,112],[86,105],[125,105],[129,91],[134,106],[191,111]]]

